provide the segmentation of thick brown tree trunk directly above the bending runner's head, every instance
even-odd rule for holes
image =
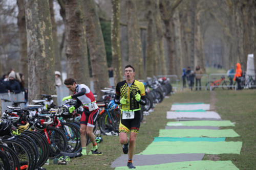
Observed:
[[[86,29],[81,0],[66,1],[67,77],[90,85]]]

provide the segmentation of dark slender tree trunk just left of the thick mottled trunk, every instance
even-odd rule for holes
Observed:
[[[25,87],[28,85],[28,53],[27,53],[27,33],[26,33],[26,16],[25,0],[17,0],[18,6],[18,35],[19,35],[19,58],[20,68],[25,78]]]

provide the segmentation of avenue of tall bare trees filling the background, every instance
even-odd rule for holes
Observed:
[[[29,101],[54,94],[54,71],[94,90],[123,67],[136,79],[215,64],[229,69],[256,54],[254,0],[16,0],[0,2],[0,73],[25,75]],[[56,20],[56,16],[58,19]],[[254,59],[256,68],[256,60]],[[99,95],[100,96],[100,95]]]

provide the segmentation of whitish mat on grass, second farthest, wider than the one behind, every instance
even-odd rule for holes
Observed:
[[[177,119],[177,118],[212,118],[212,119],[221,119],[221,116],[214,111],[206,112],[173,112],[168,111],[166,118],[168,119]],[[201,121],[201,120],[200,120]]]

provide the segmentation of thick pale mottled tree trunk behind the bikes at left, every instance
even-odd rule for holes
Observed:
[[[52,26],[48,1],[25,1],[28,41],[29,103],[55,94]],[[40,7],[40,8],[38,8]]]

